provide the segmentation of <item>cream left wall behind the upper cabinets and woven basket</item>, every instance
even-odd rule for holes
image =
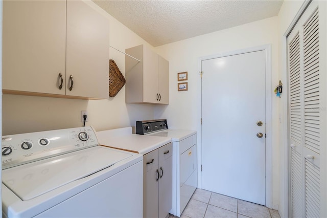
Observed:
[[[86,3],[108,17],[111,46],[125,51],[129,47],[149,45],[96,4],[90,1]],[[110,59],[116,62],[125,75],[125,55],[110,48]],[[88,111],[89,122],[86,125],[92,125],[96,130],[135,126],[136,120],[154,117],[153,105],[125,103],[125,86],[108,100],[3,95],[3,135],[82,126],[80,111]]]

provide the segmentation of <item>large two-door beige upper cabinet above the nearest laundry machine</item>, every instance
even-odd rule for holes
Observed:
[[[3,4],[5,94],[109,97],[107,18],[82,1]]]

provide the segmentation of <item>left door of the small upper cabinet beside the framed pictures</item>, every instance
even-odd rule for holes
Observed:
[[[143,46],[143,102],[157,103],[158,54]]]

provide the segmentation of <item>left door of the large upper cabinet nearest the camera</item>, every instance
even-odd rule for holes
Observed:
[[[65,1],[3,1],[3,89],[64,95],[65,40]]]

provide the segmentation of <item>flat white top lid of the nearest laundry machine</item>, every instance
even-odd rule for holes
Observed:
[[[127,152],[96,146],[4,169],[2,180],[21,200],[28,201],[131,156]]]

